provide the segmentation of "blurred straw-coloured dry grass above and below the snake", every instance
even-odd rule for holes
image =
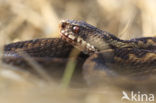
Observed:
[[[155,36],[155,11],[156,0],[0,0],[0,47],[59,37],[62,19],[83,20],[122,39]],[[122,96],[115,87],[60,89],[3,63],[0,91],[1,103],[120,103]]]

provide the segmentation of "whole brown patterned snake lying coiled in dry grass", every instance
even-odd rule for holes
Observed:
[[[82,68],[81,72],[86,80],[117,76],[141,77],[155,73],[156,37],[122,40],[77,20],[62,20],[59,27],[59,38],[6,44],[3,62],[26,67],[28,63],[20,55],[20,52],[24,52],[46,68],[54,65],[65,68],[69,58],[74,56],[69,57],[71,51],[75,49],[80,52],[76,57],[76,69]],[[60,70],[58,67],[55,69]]]

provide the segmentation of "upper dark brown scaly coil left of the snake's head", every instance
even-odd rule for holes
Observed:
[[[32,57],[60,57],[67,58],[73,46],[60,38],[35,39],[8,44],[4,51],[11,55],[11,52],[17,53],[22,50]]]

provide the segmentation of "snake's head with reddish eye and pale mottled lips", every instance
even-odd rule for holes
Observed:
[[[100,32],[101,30],[83,21],[62,20],[60,23],[61,38],[86,54],[98,51]]]

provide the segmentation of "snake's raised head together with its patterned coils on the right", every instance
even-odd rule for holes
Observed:
[[[145,76],[156,69],[155,37],[121,40],[75,20],[62,21],[60,32],[64,40],[91,55],[83,65],[85,77],[97,78],[102,72],[111,76]]]

